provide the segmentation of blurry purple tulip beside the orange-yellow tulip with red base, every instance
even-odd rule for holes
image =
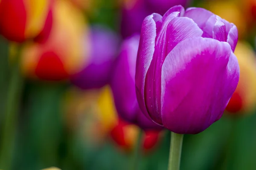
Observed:
[[[119,38],[107,28],[94,26],[90,32],[89,64],[71,77],[71,82],[82,89],[101,88],[108,84],[119,46]]]

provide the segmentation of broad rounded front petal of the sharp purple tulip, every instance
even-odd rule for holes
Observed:
[[[238,62],[227,42],[202,37],[180,42],[162,68],[164,127],[175,133],[205,130],[224,112],[238,80]]]

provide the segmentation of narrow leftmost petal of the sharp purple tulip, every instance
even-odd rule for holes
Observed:
[[[144,99],[145,77],[153,58],[155,38],[157,36],[156,22],[158,22],[160,18],[161,17],[159,14],[152,14],[146,17],[143,21],[140,35],[140,46],[136,63],[135,85],[140,109],[146,116],[148,116],[148,111],[146,109]],[[148,118],[150,117],[148,116]]]

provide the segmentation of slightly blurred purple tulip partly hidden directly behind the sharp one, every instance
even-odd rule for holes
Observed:
[[[142,129],[160,129],[161,126],[148,119],[140,110],[135,92],[135,68],[140,36],[125,40],[122,44],[116,67],[113,71],[111,88],[116,110],[122,119]]]

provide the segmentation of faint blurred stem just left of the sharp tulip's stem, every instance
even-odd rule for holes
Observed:
[[[137,142],[136,142],[136,145],[134,147],[134,152],[133,152],[133,155],[132,155],[131,170],[139,169],[138,168],[138,163],[139,163],[139,159],[140,159],[142,135],[143,135],[143,130],[140,129],[138,137],[137,137]]]

